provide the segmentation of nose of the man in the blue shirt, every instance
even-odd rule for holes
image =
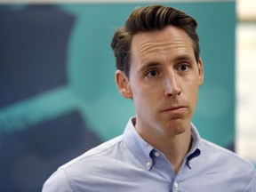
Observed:
[[[180,95],[181,93],[180,86],[176,80],[177,79],[173,74],[166,77],[164,82],[164,95],[166,97],[170,97],[173,95]]]

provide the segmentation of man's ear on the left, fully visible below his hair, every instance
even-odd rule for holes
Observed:
[[[116,85],[119,92],[126,99],[132,99],[132,90],[128,78],[121,70],[116,70]]]

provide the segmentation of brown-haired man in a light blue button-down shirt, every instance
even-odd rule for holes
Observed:
[[[123,135],[62,165],[43,191],[256,191],[252,164],[201,139],[190,122],[204,81],[196,25],[172,7],[132,12],[111,46],[135,116]]]

